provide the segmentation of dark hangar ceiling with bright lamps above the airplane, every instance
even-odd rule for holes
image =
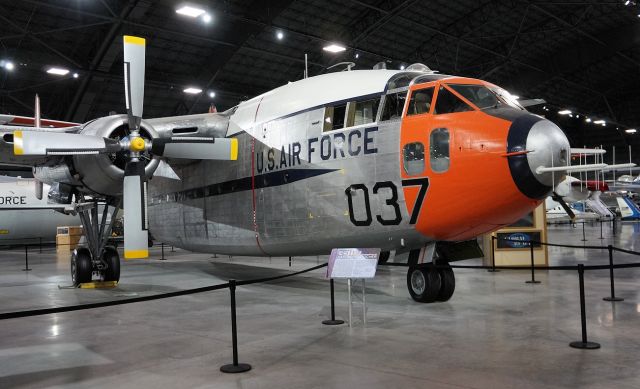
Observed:
[[[625,5],[625,3],[629,3]],[[218,110],[338,62],[388,68],[422,62],[486,79],[565,129],[575,146],[640,154],[640,4],[544,0],[0,1],[0,113],[86,121],[124,111],[121,35],[146,37],[145,117]],[[278,39],[282,33],[282,39]],[[340,54],[322,50],[332,42]],[[357,54],[357,58],[356,58]],[[45,72],[69,69],[65,76]],[[77,78],[74,78],[77,73]],[[185,94],[186,87],[203,90]],[[211,98],[209,92],[215,92]],[[568,109],[572,116],[558,115]],[[576,117],[580,115],[580,117]],[[587,115],[592,119],[586,123]],[[594,125],[605,120],[606,126]],[[640,129],[640,128],[639,128]],[[609,153],[610,155],[611,153]],[[640,158],[635,162],[640,163]]]

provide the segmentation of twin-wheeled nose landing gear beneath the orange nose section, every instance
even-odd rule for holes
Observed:
[[[411,250],[409,253],[407,288],[411,297],[420,303],[448,301],[456,289],[455,275],[448,262],[436,259],[433,262],[419,263],[421,257],[431,259],[434,255],[435,245],[422,250]]]

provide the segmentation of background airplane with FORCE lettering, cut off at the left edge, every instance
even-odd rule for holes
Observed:
[[[58,188],[44,185],[46,197],[38,198],[33,179],[0,176],[0,245],[50,243],[56,227],[80,225]]]

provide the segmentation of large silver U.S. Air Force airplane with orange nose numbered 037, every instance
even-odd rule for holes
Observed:
[[[456,258],[441,247],[512,224],[567,173],[607,166],[571,166],[562,130],[504,89],[421,64],[327,73],[224,112],[142,119],[145,45],[123,37],[127,114],[0,132],[0,163],[33,166],[79,199],[88,247],[73,253],[74,284],[113,280],[119,264],[90,195],[124,205],[125,259],[148,257],[149,230],[229,255],[406,251],[411,297],[447,301]]]

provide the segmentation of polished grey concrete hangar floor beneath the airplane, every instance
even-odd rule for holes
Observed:
[[[587,226],[588,245],[640,250],[638,224]],[[581,229],[550,227],[554,243],[582,244]],[[606,263],[605,251],[550,248],[551,264]],[[221,257],[182,250],[167,260],[123,263],[109,290],[59,289],[70,283],[68,258],[55,251],[0,251],[0,312],[162,293],[285,274],[326,258]],[[159,248],[152,250],[159,258]],[[640,257],[615,254],[617,262]],[[465,261],[477,264],[479,261]],[[0,388],[639,388],[640,270],[588,272],[589,340],[580,339],[575,272],[457,270],[446,303],[418,304],[406,269],[381,267],[367,283],[367,326],[323,326],[329,316],[324,269],[238,288],[240,362],[248,373],[219,371],[231,362],[227,290],[109,308],[0,321]],[[347,316],[346,283],[337,282],[337,314]],[[355,312],[359,311],[359,306]]]

